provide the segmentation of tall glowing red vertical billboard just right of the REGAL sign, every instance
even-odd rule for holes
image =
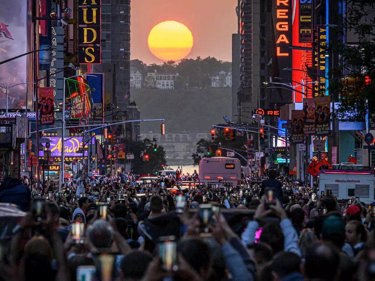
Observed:
[[[304,98],[312,97],[312,79],[308,75],[308,69],[312,67],[312,4],[308,3],[308,0],[294,1],[297,3],[296,7],[293,7],[293,11],[296,15],[293,19],[293,46],[306,48],[303,50],[293,49],[293,70],[292,72],[292,85],[302,93],[296,92],[296,100],[294,102],[302,102],[302,96]],[[311,1],[310,1],[311,2]],[[301,71],[302,70],[302,71]],[[311,76],[311,75],[310,75]],[[303,85],[301,85],[303,84]]]

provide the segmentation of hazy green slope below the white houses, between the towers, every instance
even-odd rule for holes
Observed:
[[[209,133],[212,124],[233,119],[231,88],[202,90],[132,90],[141,119],[165,119],[166,133]],[[141,133],[160,132],[159,124],[141,123]]]

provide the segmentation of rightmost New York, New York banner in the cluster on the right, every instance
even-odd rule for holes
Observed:
[[[331,96],[315,98],[315,135],[328,136],[331,129]]]

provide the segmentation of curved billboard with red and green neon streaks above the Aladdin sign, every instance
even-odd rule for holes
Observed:
[[[89,116],[92,106],[92,97],[89,83],[82,77],[66,79],[66,102],[71,102],[71,118],[80,118]]]

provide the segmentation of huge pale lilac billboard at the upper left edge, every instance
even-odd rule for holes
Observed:
[[[0,11],[0,61],[27,52],[27,0],[1,1]],[[0,108],[22,109],[26,107],[27,56],[0,64]],[[14,86],[14,87],[12,87]],[[31,96],[30,96],[31,98]],[[30,100],[29,98],[29,100]]]

